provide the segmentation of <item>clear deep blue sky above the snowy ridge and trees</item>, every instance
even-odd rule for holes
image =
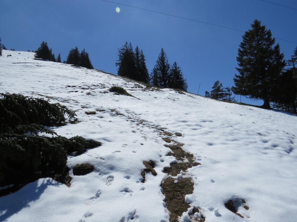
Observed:
[[[176,61],[181,67],[188,91],[197,94],[201,83],[199,94],[204,96],[217,80],[225,87],[233,86],[238,45],[244,34],[238,30],[248,30],[255,19],[261,20],[274,38],[297,42],[297,1],[268,1],[274,4],[261,0],[113,0],[119,4],[1,0],[0,37],[8,49],[18,51],[36,50],[46,41],[56,56],[61,53],[62,61],[77,46],[89,53],[95,69],[113,74],[117,73],[118,49],[126,41],[143,50],[149,72],[163,48],[169,63]],[[289,59],[297,44],[279,39],[276,43]],[[262,101],[244,98],[242,102],[262,105]]]

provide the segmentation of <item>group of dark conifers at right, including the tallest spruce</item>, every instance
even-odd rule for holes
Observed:
[[[263,108],[273,108],[287,112],[297,112],[297,47],[287,61],[275,45],[271,30],[255,20],[251,29],[242,36],[236,57],[238,67],[233,78],[231,91],[249,99],[261,99]],[[216,81],[206,97],[235,101],[230,87],[224,88]],[[227,98],[226,98],[227,94]]]

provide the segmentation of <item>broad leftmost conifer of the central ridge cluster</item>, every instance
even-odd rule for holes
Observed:
[[[135,56],[131,42],[129,45],[128,42],[126,42],[118,52],[119,60],[116,62],[116,66],[118,67],[118,75],[135,79]]]

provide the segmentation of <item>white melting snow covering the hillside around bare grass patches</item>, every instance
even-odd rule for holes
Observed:
[[[70,187],[42,178],[0,197],[0,221],[169,221],[160,184],[167,177],[163,168],[176,160],[167,156],[170,149],[162,137],[184,143],[182,148],[201,163],[175,177],[194,181],[193,194],[185,197],[190,208],[179,220],[191,221],[191,207],[200,207],[195,215],[206,221],[297,221],[296,115],[146,89],[97,70],[34,60],[32,52],[2,54],[0,92],[48,96],[52,103],[78,110],[80,123],[53,130],[102,146],[68,157]],[[136,98],[115,95],[108,91],[111,86]],[[173,136],[161,135],[160,129]],[[157,172],[146,173],[145,183],[143,160],[153,160]],[[91,163],[95,170],[73,176],[78,163]],[[228,200],[244,218],[225,208]]]

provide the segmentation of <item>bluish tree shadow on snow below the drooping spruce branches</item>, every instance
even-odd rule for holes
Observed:
[[[30,202],[35,202],[48,186],[59,186],[60,183],[51,178],[41,178],[29,183],[19,191],[0,197],[0,221],[7,221],[12,215],[25,207],[30,207]]]

